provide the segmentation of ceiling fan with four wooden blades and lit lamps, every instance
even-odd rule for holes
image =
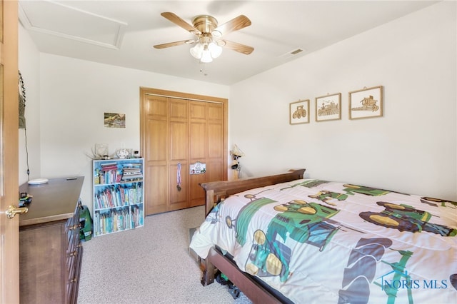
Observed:
[[[222,47],[246,55],[251,54],[254,50],[252,46],[238,44],[237,42],[221,38],[223,35],[229,34],[232,31],[238,31],[246,26],[250,26],[251,20],[244,15],[233,18],[220,26],[218,26],[216,18],[209,15],[196,16],[192,21],[192,25],[171,12],[164,12],[161,16],[164,16],[164,18],[169,19],[169,21],[181,26],[181,28],[189,31],[191,34],[194,34],[196,38],[169,42],[167,44],[158,44],[154,46],[155,49],[165,49],[170,46],[196,43],[196,46],[191,48],[191,55],[196,59],[200,59],[201,62],[213,61],[214,58],[221,54]]]

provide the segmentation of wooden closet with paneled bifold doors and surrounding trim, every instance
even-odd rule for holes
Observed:
[[[227,178],[228,100],[154,88],[140,96],[145,214],[204,205],[199,183]]]

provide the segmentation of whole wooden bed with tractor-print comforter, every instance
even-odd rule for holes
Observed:
[[[202,183],[190,248],[253,303],[456,303],[457,203],[274,176]]]

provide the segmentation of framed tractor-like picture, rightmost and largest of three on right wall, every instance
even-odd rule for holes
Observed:
[[[383,116],[383,86],[349,92],[349,119]]]

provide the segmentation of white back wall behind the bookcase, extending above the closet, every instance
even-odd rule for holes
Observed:
[[[41,177],[85,176],[81,198],[91,209],[95,144],[140,148],[141,86],[229,97],[228,86],[41,54]],[[105,128],[105,112],[125,113],[126,128]]]

